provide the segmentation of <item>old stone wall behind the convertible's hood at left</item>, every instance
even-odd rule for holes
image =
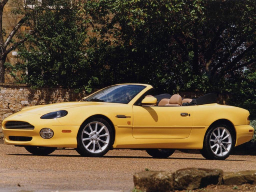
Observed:
[[[28,106],[58,102],[78,101],[84,93],[74,93],[72,89],[40,88],[32,89],[26,84],[0,84],[0,124],[4,118]],[[3,138],[0,128],[0,139]]]

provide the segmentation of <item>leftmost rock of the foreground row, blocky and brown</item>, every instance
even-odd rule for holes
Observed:
[[[174,177],[168,171],[143,171],[134,174],[134,186],[146,192],[168,192],[174,190]]]

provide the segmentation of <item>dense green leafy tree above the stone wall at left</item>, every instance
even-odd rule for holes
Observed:
[[[54,2],[57,7],[59,2]],[[89,92],[97,77],[93,76],[86,56],[88,26],[83,21],[75,7],[42,12],[38,32],[19,47],[18,54],[24,60],[16,65],[17,70],[23,71],[20,82],[34,87],[87,85]]]

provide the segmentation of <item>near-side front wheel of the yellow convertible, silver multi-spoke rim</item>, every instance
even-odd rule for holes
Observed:
[[[93,118],[80,127],[76,151],[86,157],[102,157],[113,145],[113,131],[103,118]]]

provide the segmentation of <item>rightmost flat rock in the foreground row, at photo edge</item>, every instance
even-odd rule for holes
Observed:
[[[256,170],[225,172],[223,183],[224,185],[256,184]]]

